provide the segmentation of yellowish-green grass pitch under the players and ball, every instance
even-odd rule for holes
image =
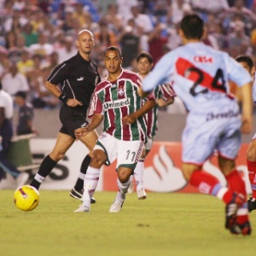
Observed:
[[[22,212],[13,190],[0,190],[0,255],[3,256],[241,256],[255,253],[255,234],[224,230],[224,203],[208,195],[127,195],[109,213],[115,193],[96,192],[90,212],[76,212],[68,191],[40,191],[40,205]],[[256,212],[251,214],[253,229]]]

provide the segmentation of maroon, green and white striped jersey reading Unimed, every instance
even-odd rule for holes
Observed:
[[[113,82],[102,80],[96,85],[90,105],[89,117],[101,113],[104,117],[103,131],[124,141],[144,141],[147,127],[145,116],[137,118],[131,125],[122,125],[122,119],[143,106],[143,98],[137,95],[142,78],[128,70],[122,70]],[[154,99],[153,94],[148,99]]]

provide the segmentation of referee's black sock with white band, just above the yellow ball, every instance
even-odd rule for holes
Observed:
[[[36,189],[39,189],[41,186],[41,183],[43,183],[44,178],[49,175],[49,173],[53,170],[53,168],[56,166],[57,162],[52,160],[49,155],[47,155],[41,166],[39,167],[38,173],[35,175],[35,177],[32,179],[32,182],[30,185]]]

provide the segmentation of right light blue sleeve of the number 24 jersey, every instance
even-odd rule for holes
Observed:
[[[229,57],[229,79],[235,82],[239,87],[241,87],[243,84],[247,84],[252,82],[252,78],[250,74],[247,72],[247,70],[241,65]]]

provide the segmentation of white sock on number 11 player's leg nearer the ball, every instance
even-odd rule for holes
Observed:
[[[88,167],[84,175],[83,206],[90,208],[90,197],[95,192],[100,177],[100,168]]]

